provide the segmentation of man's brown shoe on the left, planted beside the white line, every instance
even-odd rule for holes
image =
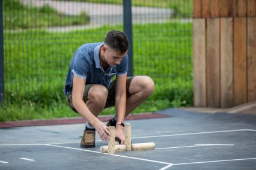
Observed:
[[[95,130],[84,130],[84,135],[80,144],[81,148],[94,148],[95,147]]]

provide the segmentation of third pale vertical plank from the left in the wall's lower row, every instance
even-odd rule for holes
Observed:
[[[233,107],[233,19],[220,19],[221,107]]]

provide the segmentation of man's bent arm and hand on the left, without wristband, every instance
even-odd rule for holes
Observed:
[[[91,125],[94,126],[96,132],[98,133],[100,139],[102,141],[108,141],[109,139],[109,131],[108,126],[106,126],[103,122],[97,119],[93,113],[89,110],[85,102],[83,101],[84,89],[85,89],[85,79],[77,77],[74,75],[73,77],[73,90],[72,90],[72,102],[73,107],[75,107],[76,111],[81,114]]]

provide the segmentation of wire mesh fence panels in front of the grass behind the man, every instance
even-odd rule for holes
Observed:
[[[111,29],[123,30],[122,0],[2,3],[7,101],[47,89],[61,93],[75,50],[103,41]],[[192,0],[132,5],[134,75],[153,78],[156,98],[168,88],[192,84]]]

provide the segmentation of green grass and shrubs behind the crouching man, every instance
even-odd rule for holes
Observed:
[[[5,5],[5,10],[15,11],[15,6]],[[41,13],[56,13],[48,7],[22,6],[22,9],[29,11],[28,16],[38,14],[40,9]],[[56,16],[65,18],[62,14]],[[7,23],[4,22],[4,28]],[[61,33],[15,23],[9,23],[7,28],[29,29],[4,31],[6,100],[0,107],[0,121],[79,116],[67,107],[62,93],[70,59],[80,45],[103,41],[107,31],[122,31],[123,27],[102,26]],[[41,20],[41,23],[43,26],[55,25],[49,20],[47,23]],[[155,83],[154,94],[133,113],[192,105],[192,23],[170,20],[133,25],[133,63],[135,75],[149,75]],[[102,114],[114,113],[112,107]]]

